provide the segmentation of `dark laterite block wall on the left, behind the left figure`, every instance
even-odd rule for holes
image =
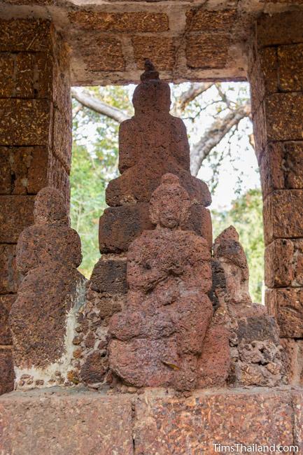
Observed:
[[[45,186],[69,201],[69,52],[47,20],[0,22],[0,393],[13,386],[8,311],[15,300],[15,245],[34,221]]]

